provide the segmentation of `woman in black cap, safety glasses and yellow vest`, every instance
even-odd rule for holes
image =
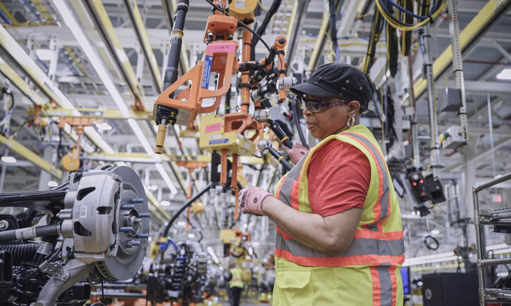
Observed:
[[[240,191],[242,212],[277,224],[273,305],[402,305],[401,213],[382,150],[360,114],[373,98],[365,73],[320,66],[291,87],[320,142],[295,144],[274,196]]]

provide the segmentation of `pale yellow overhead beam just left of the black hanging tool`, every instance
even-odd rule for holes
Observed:
[[[128,10],[128,16],[133,23],[133,30],[135,31],[138,42],[140,42],[144,57],[149,66],[149,71],[151,71],[151,78],[153,80],[154,89],[157,92],[160,92],[161,85],[163,84],[161,81],[161,72],[158,68],[156,58],[154,57],[151,44],[149,43],[146,26],[144,24],[144,20],[142,20],[140,10],[138,10],[138,5],[136,4],[135,0],[124,0],[124,4]]]

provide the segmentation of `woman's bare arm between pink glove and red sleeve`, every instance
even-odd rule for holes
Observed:
[[[362,215],[362,209],[351,208],[322,217],[297,211],[272,196],[263,200],[261,208],[265,215],[293,239],[330,254],[338,254],[350,246]]]

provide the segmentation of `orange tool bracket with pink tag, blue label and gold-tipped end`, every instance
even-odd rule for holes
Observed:
[[[215,11],[207,19],[204,35],[207,47],[203,59],[173,82],[154,101],[153,120],[158,124],[155,149],[157,154],[163,152],[168,123],[191,126],[198,114],[216,111],[220,106],[222,95],[230,87],[231,77],[238,73],[236,57],[238,43],[233,40],[237,27],[238,19]],[[209,89],[212,72],[218,73],[216,90]],[[191,81],[192,85],[174,98],[179,86],[187,81]],[[210,97],[215,97],[215,103],[202,107],[202,99]]]

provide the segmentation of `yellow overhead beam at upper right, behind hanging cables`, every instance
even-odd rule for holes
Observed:
[[[511,7],[511,0],[494,1],[490,0],[470,21],[459,35],[461,52],[466,53],[475,46],[476,42],[494,25],[501,16]],[[452,66],[452,45],[450,44],[444,52],[433,63],[433,79],[436,81]],[[415,98],[419,99],[426,92],[426,79],[420,78],[413,86]],[[469,88],[466,86],[466,88]]]

